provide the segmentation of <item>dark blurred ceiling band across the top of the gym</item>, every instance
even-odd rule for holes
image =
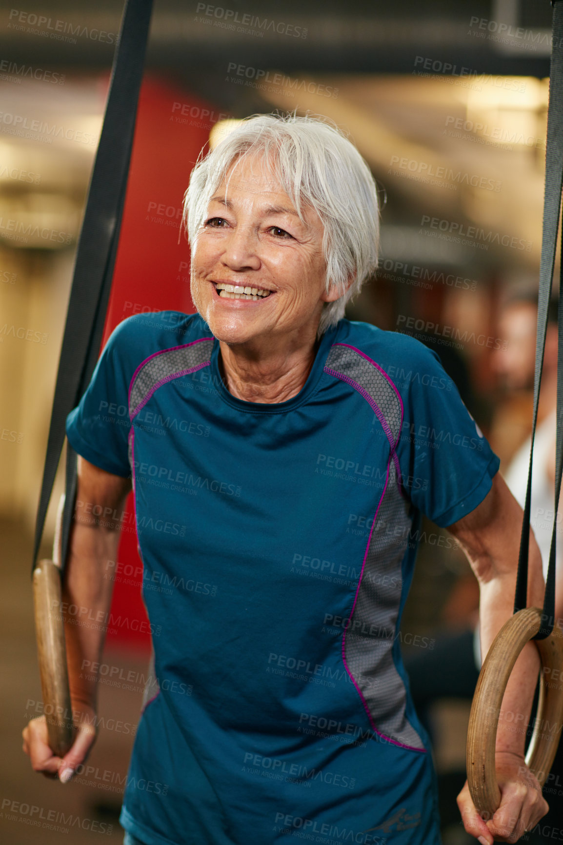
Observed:
[[[74,68],[111,63],[114,39],[92,32],[118,32],[119,0],[36,0],[23,13],[14,5],[0,10],[3,59],[32,56]],[[550,19],[549,0],[155,0],[148,66],[186,81],[222,73],[231,62],[287,73],[410,74],[422,56],[439,73],[463,66],[545,76]]]

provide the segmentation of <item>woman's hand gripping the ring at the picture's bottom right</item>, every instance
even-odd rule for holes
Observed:
[[[496,779],[500,789],[500,806],[492,819],[485,821],[475,809],[467,781],[457,796],[467,833],[481,845],[493,842],[517,842],[522,834],[531,831],[549,810],[538,779],[520,755],[497,751]]]

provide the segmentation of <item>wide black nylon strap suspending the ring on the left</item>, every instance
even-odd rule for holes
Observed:
[[[58,363],[45,469],[37,509],[34,567],[63,449],[66,417],[78,405],[90,383],[100,352],[113,266],[118,250],[151,11],[152,0],[126,0],[123,10],[106,114],[76,252],[73,285]],[[68,446],[67,493],[60,561],[62,567],[66,560],[75,488],[76,455]]]

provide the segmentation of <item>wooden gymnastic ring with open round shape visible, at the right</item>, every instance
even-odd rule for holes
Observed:
[[[489,648],[473,695],[467,728],[467,782],[473,804],[480,815],[489,819],[500,804],[495,770],[500,706],[517,657],[538,633],[541,617],[539,608],[525,608],[508,619]],[[563,684],[549,684],[551,670],[556,668],[560,672],[563,668],[563,633],[555,625],[549,637],[533,642],[539,651],[542,671],[539,676],[538,713],[526,764],[543,786],[553,764],[563,722]],[[549,722],[550,728],[547,732],[541,730],[546,722]]]

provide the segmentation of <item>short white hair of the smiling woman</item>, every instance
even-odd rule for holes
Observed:
[[[261,153],[299,215],[310,205],[324,226],[326,289],[342,292],[325,303],[319,334],[344,316],[348,300],[374,275],[380,235],[377,189],[369,166],[336,126],[319,117],[254,115],[243,120],[194,166],[184,195],[183,225],[193,244],[210,199],[232,164]],[[347,289],[347,281],[353,283]]]

